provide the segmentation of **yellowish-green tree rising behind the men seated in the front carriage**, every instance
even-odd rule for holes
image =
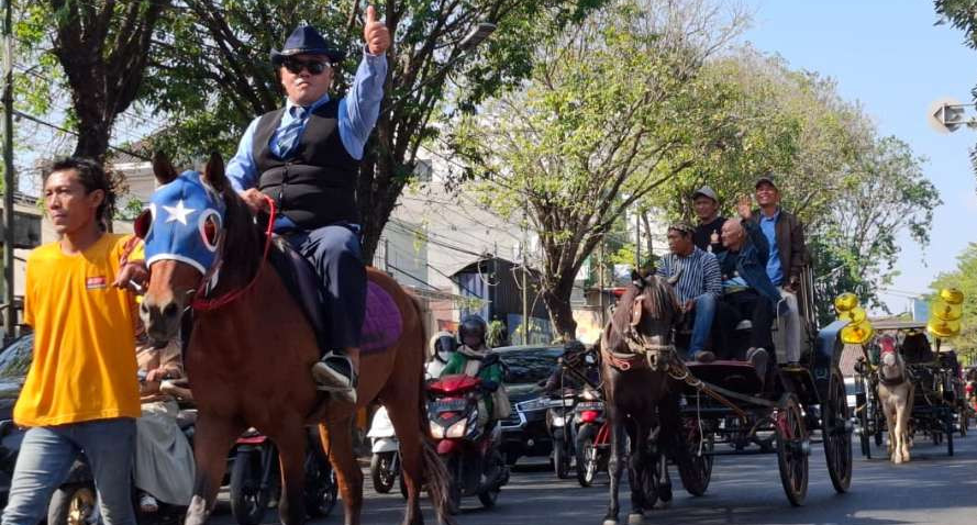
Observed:
[[[908,232],[925,245],[941,203],[923,175],[924,160],[898,138],[878,137],[831,79],[791,70],[748,47],[706,69],[736,86],[735,125],[721,137],[722,147],[698,155],[650,203],[669,219],[689,219],[689,196],[708,183],[731,216],[736,198],[752,194],[756,178],[773,170],[785,209],[806,224],[821,321],[833,319],[831,300],[845,291],[880,305],[877,290],[896,275],[899,235]]]

